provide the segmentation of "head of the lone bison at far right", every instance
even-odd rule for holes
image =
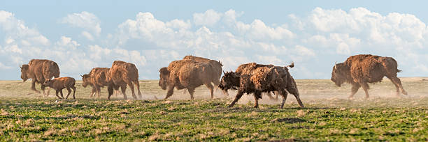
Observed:
[[[331,72],[331,81],[340,87],[350,75],[349,70],[349,67],[344,63],[336,63],[333,67],[333,72]]]

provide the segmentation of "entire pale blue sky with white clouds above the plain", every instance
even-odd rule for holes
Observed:
[[[140,79],[186,55],[289,65],[297,79],[329,79],[355,54],[391,56],[399,77],[428,76],[428,1],[2,1],[0,80],[47,58],[81,79],[115,60]]]

